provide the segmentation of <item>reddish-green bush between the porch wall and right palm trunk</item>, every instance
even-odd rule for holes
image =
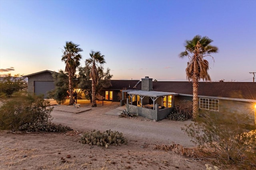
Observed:
[[[178,105],[173,108],[173,111],[168,115],[168,119],[172,121],[186,121],[192,118],[193,102],[192,101],[180,101]]]

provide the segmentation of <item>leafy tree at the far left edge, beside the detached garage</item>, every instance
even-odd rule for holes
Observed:
[[[11,76],[8,74],[6,77],[0,77],[0,98],[10,97],[11,95],[24,95],[27,93],[28,83],[25,78],[19,74]]]

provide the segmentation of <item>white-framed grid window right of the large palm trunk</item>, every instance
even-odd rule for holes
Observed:
[[[199,108],[210,111],[219,111],[219,99],[200,98]]]

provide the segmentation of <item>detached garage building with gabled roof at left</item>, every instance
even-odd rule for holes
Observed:
[[[54,71],[44,70],[23,77],[28,77],[28,94],[30,95],[44,95],[47,97],[47,92],[54,89],[54,79],[52,77]]]

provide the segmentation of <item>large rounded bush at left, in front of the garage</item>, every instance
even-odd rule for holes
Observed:
[[[16,131],[26,123],[50,122],[53,107],[49,105],[38,96],[12,98],[0,107],[0,129]]]

